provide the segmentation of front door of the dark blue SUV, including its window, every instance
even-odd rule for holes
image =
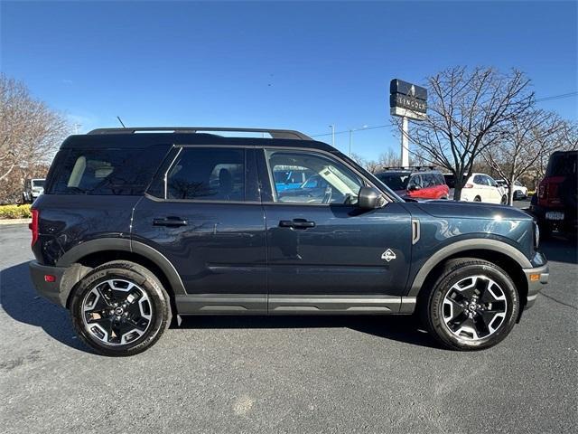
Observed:
[[[404,205],[361,211],[368,181],[336,156],[267,149],[261,157],[272,193],[264,201],[269,312],[395,312],[411,261]],[[275,173],[287,170],[310,179],[279,189]]]

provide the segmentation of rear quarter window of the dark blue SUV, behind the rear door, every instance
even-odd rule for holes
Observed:
[[[142,194],[168,148],[62,149],[54,159],[47,193]]]

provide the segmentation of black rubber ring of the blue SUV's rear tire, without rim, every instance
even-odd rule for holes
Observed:
[[[146,274],[150,273],[144,271],[146,270],[135,266],[122,267],[120,265],[114,265],[107,267],[105,264],[105,266],[91,271],[87,277],[80,281],[79,287],[76,289],[70,302],[70,316],[78,335],[98,353],[106,355],[133,355],[141,353],[154,344],[160,335],[162,335],[164,328],[166,328],[167,321],[170,319],[168,298],[165,296],[158,280],[153,276],[147,276]],[[144,335],[136,339],[134,343],[124,345],[103,344],[98,341],[97,338],[90,335],[85,328],[82,318],[82,300],[89,291],[98,284],[112,278],[134,282],[146,292],[151,302],[153,322],[149,325],[146,332],[144,332]]]

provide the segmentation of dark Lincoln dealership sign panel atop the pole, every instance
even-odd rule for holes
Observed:
[[[393,116],[422,120],[427,112],[427,90],[404,80],[391,80],[389,107]]]

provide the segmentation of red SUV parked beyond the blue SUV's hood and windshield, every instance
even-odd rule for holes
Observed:
[[[387,168],[376,176],[401,197],[448,199],[450,196],[450,188],[442,173],[433,167]]]

